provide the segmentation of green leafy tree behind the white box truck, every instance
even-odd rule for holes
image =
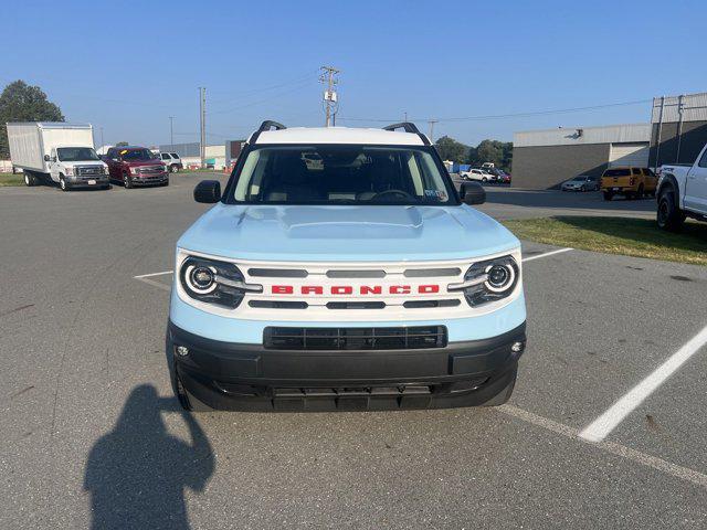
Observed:
[[[4,126],[8,121],[64,121],[64,116],[39,86],[30,86],[18,80],[0,94],[0,159],[10,158],[8,129]]]

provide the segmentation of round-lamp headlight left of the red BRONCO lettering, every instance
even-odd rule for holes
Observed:
[[[245,284],[239,267],[232,263],[190,256],[179,271],[179,282],[196,300],[234,309],[247,292],[262,293],[263,286]]]

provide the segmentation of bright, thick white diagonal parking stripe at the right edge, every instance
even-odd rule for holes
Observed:
[[[629,414],[635,411],[648,395],[661,386],[667,378],[673,375],[705,344],[707,344],[707,326],[677,350],[667,361],[656,368],[653,373],[636,384],[606,412],[587,426],[587,428],[579,434],[580,437],[589,442],[601,442]]]

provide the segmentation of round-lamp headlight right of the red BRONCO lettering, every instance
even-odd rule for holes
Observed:
[[[520,269],[513,256],[496,257],[474,263],[461,284],[451,284],[449,290],[463,290],[466,301],[477,307],[499,300],[513,293],[518,285]]]

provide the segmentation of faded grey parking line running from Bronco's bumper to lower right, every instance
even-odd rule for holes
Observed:
[[[641,453],[640,451],[632,449],[613,442],[590,442],[587,438],[582,437],[579,433],[579,430],[577,428],[555,422],[552,420],[548,420],[547,417],[538,416],[537,414],[525,411],[514,405],[505,404],[495,410],[508,416],[513,416],[523,422],[542,427],[567,438],[576,439],[591,445],[592,447],[597,447],[601,451],[604,451],[605,453],[621,456],[622,458],[626,458],[643,466],[651,467],[673,477],[695,484],[696,486],[707,488],[707,475],[696,471],[695,469],[678,466],[671,462],[664,460],[663,458],[658,458],[657,456],[646,455],[645,453]]]

